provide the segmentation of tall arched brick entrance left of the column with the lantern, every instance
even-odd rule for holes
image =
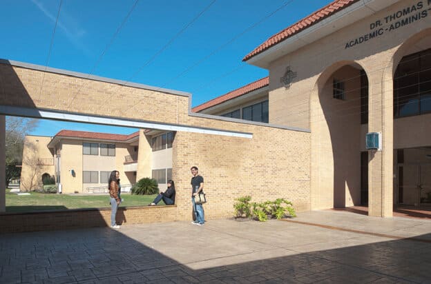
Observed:
[[[316,82],[310,101],[312,209],[367,203],[367,163],[361,165],[367,94],[367,74],[354,61],[335,63]]]

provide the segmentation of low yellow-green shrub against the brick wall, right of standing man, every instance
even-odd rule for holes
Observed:
[[[286,199],[276,199],[276,201],[265,201],[262,203],[250,203],[251,196],[243,196],[233,204],[236,217],[246,216],[261,222],[269,218],[282,219],[285,216],[296,217],[294,205]]]

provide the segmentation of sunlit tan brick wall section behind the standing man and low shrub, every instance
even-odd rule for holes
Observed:
[[[253,196],[252,201],[285,198],[293,201],[297,210],[310,209],[309,133],[253,125],[247,131],[253,132],[253,139],[177,133],[173,180],[180,219],[191,214],[193,165],[204,177],[207,219],[232,216],[234,199],[246,195]]]

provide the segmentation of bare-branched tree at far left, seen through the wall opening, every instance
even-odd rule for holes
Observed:
[[[38,123],[37,119],[6,116],[6,187],[11,179],[21,176],[21,168],[17,165],[22,163],[24,139]]]

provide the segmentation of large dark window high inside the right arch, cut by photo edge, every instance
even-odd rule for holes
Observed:
[[[431,112],[431,48],[403,57],[394,75],[394,117]]]

